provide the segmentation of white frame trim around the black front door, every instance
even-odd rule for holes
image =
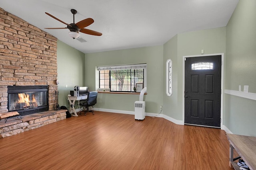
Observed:
[[[185,99],[184,99],[184,92],[185,92],[185,58],[188,57],[205,57],[205,56],[213,56],[213,55],[221,55],[221,95],[220,95],[220,129],[223,129],[223,89],[224,89],[224,53],[217,53],[217,54],[204,54],[204,55],[188,55],[183,56],[183,94],[182,94],[182,121],[183,125],[185,123]]]

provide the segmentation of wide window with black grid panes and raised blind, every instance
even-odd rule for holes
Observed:
[[[146,64],[98,66],[99,88],[110,92],[134,92],[136,83],[146,87]]]

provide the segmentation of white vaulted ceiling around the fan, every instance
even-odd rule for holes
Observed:
[[[0,7],[50,33],[60,41],[93,53],[163,45],[178,33],[224,27],[239,0],[0,0]],[[71,9],[78,13],[75,23],[93,18],[86,27],[102,36],[80,33],[87,42],[69,37],[68,29],[45,12],[73,22]]]

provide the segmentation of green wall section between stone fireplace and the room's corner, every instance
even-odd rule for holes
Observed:
[[[57,71],[59,105],[68,106],[66,98],[74,86],[84,86],[84,53],[66,45],[62,41],[57,41]],[[68,86],[66,88],[66,85]]]

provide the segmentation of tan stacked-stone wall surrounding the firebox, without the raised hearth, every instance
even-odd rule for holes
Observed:
[[[0,8],[0,113],[14,85],[48,85],[53,110],[56,79],[57,38]]]

